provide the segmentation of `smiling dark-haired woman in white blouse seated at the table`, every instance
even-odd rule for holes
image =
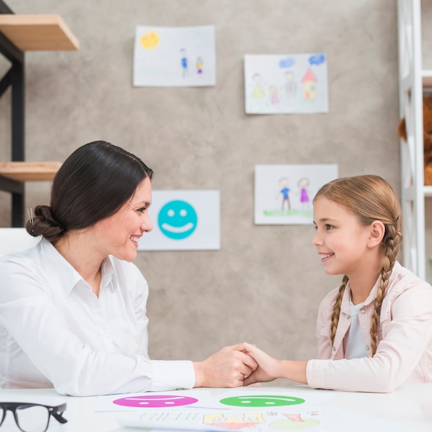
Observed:
[[[152,176],[139,157],[106,141],[63,163],[50,206],[37,206],[26,226],[41,241],[0,258],[2,388],[84,396],[232,387],[255,370],[243,344],[202,362],[148,357],[148,285],[132,261],[152,229]],[[188,215],[180,207],[170,209],[179,212],[170,219],[177,228]],[[186,228],[190,220],[196,225],[196,215]]]

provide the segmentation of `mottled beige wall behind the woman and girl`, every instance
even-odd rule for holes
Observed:
[[[315,355],[324,275],[312,226],[255,226],[255,164],[339,164],[399,191],[394,0],[7,0],[16,13],[61,14],[78,52],[26,53],[26,157],[63,161],[105,139],[154,168],[155,189],[219,189],[220,251],[140,252],[150,284],[150,355],[199,360],[224,344],[277,357]],[[137,25],[214,24],[217,86],[133,88]],[[329,112],[245,115],[243,55],[325,52]],[[0,72],[6,70],[0,61]],[[0,159],[10,157],[10,91],[0,99]],[[28,184],[27,205],[48,184]],[[0,226],[10,199],[0,193]],[[145,241],[145,239],[144,239]]]

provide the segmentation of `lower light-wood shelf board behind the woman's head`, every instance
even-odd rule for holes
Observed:
[[[16,181],[52,181],[61,162],[0,162],[0,175]]]

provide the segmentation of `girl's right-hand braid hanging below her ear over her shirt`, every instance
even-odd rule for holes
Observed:
[[[371,350],[372,356],[377,352],[377,326],[378,320],[381,315],[382,300],[386,294],[387,286],[389,285],[389,279],[393,266],[395,265],[397,250],[399,243],[402,239],[402,234],[398,232],[393,225],[386,226],[386,236],[382,242],[386,244],[386,252],[384,256],[384,263],[381,270],[380,286],[378,287],[377,296],[375,297],[373,315],[371,320]]]

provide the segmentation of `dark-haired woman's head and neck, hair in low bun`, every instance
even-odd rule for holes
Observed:
[[[133,261],[137,239],[152,228],[152,177],[153,170],[126,150],[104,141],[86,144],[59,169],[51,204],[35,208],[28,232],[50,240],[98,294],[101,262],[108,255]],[[91,256],[82,262],[86,251]]]

